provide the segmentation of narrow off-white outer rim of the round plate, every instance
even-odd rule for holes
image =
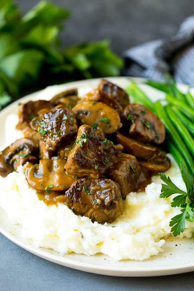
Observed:
[[[79,84],[86,83],[86,86],[89,86],[88,83],[92,82],[97,82],[100,81],[102,78],[93,78],[93,79],[86,79],[86,80],[79,80],[79,81],[72,81],[69,83],[63,83],[59,85],[54,85],[54,86],[65,86],[67,87],[72,87],[72,86],[80,86]],[[119,80],[133,80],[137,82],[142,82],[145,81],[145,78],[136,78],[136,77],[107,77],[106,79],[112,81],[112,82],[119,82]],[[117,81],[118,80],[118,81]],[[189,86],[186,84],[179,84],[182,87],[188,88]],[[47,88],[47,87],[46,87]],[[10,109],[14,108],[16,105],[18,105],[20,102],[33,98],[33,96],[37,93],[41,93],[45,89],[41,89],[39,91],[35,91],[33,93],[30,93],[24,97],[19,98],[18,100],[12,102],[9,104],[7,107],[1,110],[0,112],[0,118],[1,115],[6,114],[6,112],[9,112]],[[0,207],[0,209],[2,209]],[[80,262],[77,260],[72,260],[70,258],[64,258],[62,256],[57,256],[55,253],[48,253],[44,251],[43,248],[40,248],[38,246],[28,244],[25,242],[24,238],[19,238],[23,239],[24,242],[20,242],[17,239],[17,236],[10,233],[9,230],[4,229],[1,224],[0,224],[0,232],[10,239],[12,242],[17,244],[18,246],[22,247],[23,249],[41,257],[46,260],[49,260],[51,262],[66,266],[66,267],[71,267],[73,269],[78,269],[82,270],[85,272],[90,272],[90,273],[95,273],[95,274],[102,274],[102,275],[108,275],[108,276],[125,276],[125,277],[131,277],[131,276],[136,276],[136,277],[141,277],[141,276],[165,276],[165,275],[171,275],[171,274],[180,274],[180,273],[185,273],[185,272],[192,272],[194,271],[194,262],[190,263],[188,265],[178,265],[178,266],[171,266],[171,267],[135,267],[133,269],[127,268],[127,267],[112,267],[112,266],[102,266],[102,265],[94,265],[92,263],[87,263],[87,262]],[[88,256],[89,257],[89,256]],[[140,270],[139,270],[140,269]],[[106,274],[104,274],[106,272]],[[150,274],[151,273],[151,274]]]

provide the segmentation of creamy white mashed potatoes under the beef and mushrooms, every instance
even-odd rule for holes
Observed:
[[[12,120],[11,125],[6,122],[9,136],[16,137],[13,118],[9,120]],[[17,123],[17,118],[14,120]],[[185,190],[179,168],[172,156],[168,156],[172,166],[166,175]],[[66,205],[47,206],[40,201],[36,191],[28,186],[24,170],[19,166],[17,172],[0,178],[0,206],[7,212],[11,223],[21,225],[24,238],[32,239],[36,246],[60,253],[103,253],[115,260],[145,260],[163,251],[165,239],[161,238],[170,235],[170,219],[180,213],[179,207],[170,206],[172,198],[159,198],[161,180],[153,176],[145,193],[129,193],[123,201],[123,215],[113,223],[92,223],[87,217],[76,216]],[[186,222],[181,237],[191,237],[193,232],[194,222]]]

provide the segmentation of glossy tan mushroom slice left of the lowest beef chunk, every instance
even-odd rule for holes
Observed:
[[[37,191],[65,191],[71,187],[76,178],[64,170],[66,160],[59,157],[41,159],[39,164],[26,169],[26,180]],[[59,194],[58,194],[59,195]]]

